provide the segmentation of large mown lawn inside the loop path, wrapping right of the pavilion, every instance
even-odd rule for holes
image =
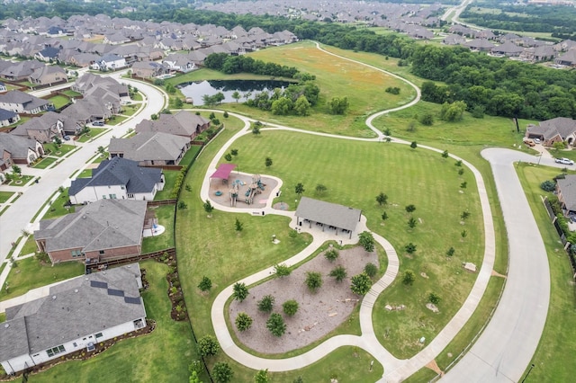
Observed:
[[[470,171],[466,169],[460,176],[454,160],[445,160],[428,150],[288,132],[266,131],[261,137],[245,136],[238,139],[235,147],[239,149],[236,161],[243,171],[269,172],[283,179],[279,200],[291,203],[297,198],[295,184],[303,183],[304,195],[362,209],[368,226],[395,246],[401,258],[401,271],[410,269],[417,279],[407,289],[400,277],[383,292],[375,307],[374,326],[376,334],[384,334],[390,327],[388,338],[379,338],[397,357],[406,358],[418,352],[418,346],[410,347],[413,341],[420,336],[432,339],[454,316],[476,277],[464,272],[461,263],[480,265],[483,256],[481,210]],[[293,156],[294,147],[298,147],[298,156]],[[270,169],[265,167],[266,156],[274,160]],[[463,182],[469,187],[460,189]],[[328,187],[321,197],[314,192],[318,183]],[[389,196],[388,205],[382,208],[375,201],[380,191]],[[409,204],[417,207],[413,214],[404,209]],[[464,210],[471,217],[461,224]],[[383,211],[389,216],[384,226]],[[409,229],[407,222],[412,216],[420,223]],[[437,226],[436,222],[443,225]],[[464,240],[463,230],[467,231]],[[410,242],[419,247],[411,258],[403,250]],[[455,255],[446,259],[450,246],[455,247]],[[427,277],[420,277],[421,272]],[[444,299],[439,314],[425,307],[430,290]],[[384,310],[386,304],[404,304],[407,308],[391,313]],[[410,340],[408,334],[416,333],[420,335]]]

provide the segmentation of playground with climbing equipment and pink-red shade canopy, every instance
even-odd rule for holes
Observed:
[[[232,172],[228,178],[211,178],[210,198],[221,206],[262,209],[277,185],[274,178],[264,175]]]

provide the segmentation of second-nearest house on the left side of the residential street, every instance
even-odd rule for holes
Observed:
[[[73,120],[54,111],[47,111],[40,117],[27,120],[10,132],[14,136],[34,138],[41,143],[47,143],[54,138],[63,138],[67,133],[75,134],[79,129]]]

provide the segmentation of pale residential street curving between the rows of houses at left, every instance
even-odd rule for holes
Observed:
[[[115,76],[120,76],[120,74],[116,74]],[[0,227],[2,227],[0,235],[0,263],[4,262],[6,255],[12,247],[11,244],[18,239],[19,236],[22,236],[22,230],[29,227],[31,219],[44,202],[49,199],[54,191],[58,190],[59,186],[69,186],[70,175],[85,165],[86,161],[95,155],[98,147],[107,147],[110,144],[110,138],[112,138],[112,136],[121,137],[126,134],[128,129],[134,128],[141,120],[149,119],[150,115],[164,108],[166,96],[159,92],[154,86],[124,78],[118,80],[136,86],[147,95],[148,100],[144,110],[140,111],[139,114],[126,123],[112,127],[112,130],[103,136],[86,143],[84,147],[76,151],[72,156],[69,156],[58,166],[46,170],[46,172],[41,175],[40,183],[32,185],[29,190],[23,193],[22,197],[16,200],[9,209],[4,211],[2,216],[0,216]],[[24,170],[23,174],[25,173]]]

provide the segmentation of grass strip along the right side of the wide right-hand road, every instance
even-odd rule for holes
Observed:
[[[535,382],[571,381],[575,371],[572,352],[576,350],[576,338],[572,334],[576,327],[576,291],[572,266],[541,200],[541,196],[551,194],[540,189],[540,183],[557,174],[558,169],[545,166],[523,164],[518,167],[518,176],[544,239],[550,265],[550,306],[544,333],[532,358],[535,368],[529,377]]]

